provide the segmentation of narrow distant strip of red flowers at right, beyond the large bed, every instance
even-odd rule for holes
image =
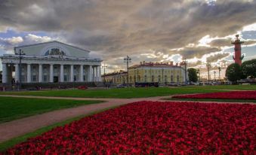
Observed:
[[[173,96],[175,99],[256,99],[256,91],[233,91]]]

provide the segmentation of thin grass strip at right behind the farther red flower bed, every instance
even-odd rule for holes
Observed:
[[[216,86],[188,86],[202,89],[217,90],[256,90],[256,85],[216,85]]]

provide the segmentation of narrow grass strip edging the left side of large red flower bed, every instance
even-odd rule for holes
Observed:
[[[45,126],[45,127],[42,127],[41,129],[35,130],[34,132],[29,132],[29,133],[26,133],[25,135],[21,135],[19,137],[12,138],[12,139],[10,139],[8,141],[0,143],[0,152],[4,151],[4,150],[7,150],[10,147],[13,147],[15,144],[19,144],[19,143],[21,143],[23,141],[26,141],[28,138],[32,138],[32,137],[35,137],[37,135],[42,135],[42,133],[48,132],[51,129],[56,128],[57,126],[64,126],[66,124],[72,123],[75,120],[80,120],[83,117],[88,117],[88,116],[91,116],[93,114],[97,114],[97,113],[100,113],[100,112],[103,112],[103,111],[107,111],[107,110],[113,109],[113,108],[118,108],[118,107],[119,106],[113,106],[111,108],[106,108],[106,109],[103,109],[103,110],[100,110],[100,111],[94,111],[94,112],[91,112],[91,114],[82,115],[82,116],[79,116],[79,117],[74,117],[74,118],[71,118],[69,120],[64,120],[63,122],[60,122],[60,123],[54,123],[51,126]]]

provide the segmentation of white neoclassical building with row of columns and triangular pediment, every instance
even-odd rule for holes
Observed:
[[[91,58],[89,50],[50,41],[14,47],[14,53],[1,56],[2,83],[101,81],[102,59]]]

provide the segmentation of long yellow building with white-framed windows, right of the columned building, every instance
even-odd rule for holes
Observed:
[[[125,71],[106,74],[106,82],[114,84],[156,83],[159,84],[184,84],[185,69],[178,65],[162,62],[140,62],[140,65],[133,65],[128,68],[128,75]],[[103,78],[103,77],[102,77]]]

